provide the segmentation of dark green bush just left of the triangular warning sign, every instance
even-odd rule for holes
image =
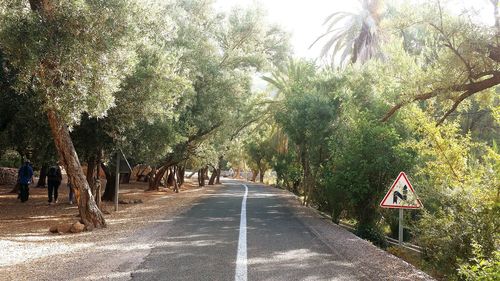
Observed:
[[[378,203],[398,171],[408,167],[411,154],[398,146],[401,137],[393,126],[357,115],[331,142],[326,194],[335,220],[345,208],[358,220],[361,235],[380,241]]]

